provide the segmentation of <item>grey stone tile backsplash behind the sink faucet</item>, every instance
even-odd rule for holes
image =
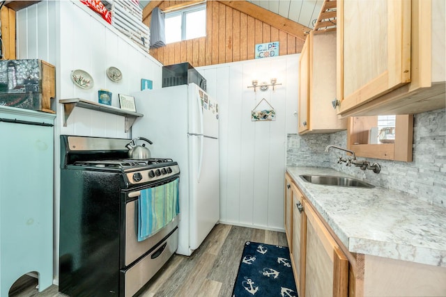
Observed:
[[[287,166],[330,167],[354,177],[367,179],[371,184],[416,195],[431,204],[446,207],[446,109],[414,115],[413,162],[367,159],[378,162],[381,172],[338,164],[337,156],[343,152],[330,150],[327,145],[346,147],[347,132],[334,134],[289,134]]]

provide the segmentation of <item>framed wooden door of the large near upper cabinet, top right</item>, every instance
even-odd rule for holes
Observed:
[[[410,81],[410,1],[338,1],[338,99],[349,109]]]

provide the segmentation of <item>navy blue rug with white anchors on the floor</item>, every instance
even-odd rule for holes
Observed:
[[[298,297],[289,248],[247,241],[232,296]]]

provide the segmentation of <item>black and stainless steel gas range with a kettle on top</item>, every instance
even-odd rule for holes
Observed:
[[[178,247],[178,164],[128,159],[129,141],[61,136],[59,291],[64,294],[133,296]],[[176,193],[168,197],[165,188]],[[153,232],[141,237],[144,226]]]

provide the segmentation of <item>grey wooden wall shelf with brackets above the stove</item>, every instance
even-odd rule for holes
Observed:
[[[75,107],[82,107],[83,109],[91,109],[93,111],[102,111],[103,113],[112,113],[114,115],[122,115],[125,117],[125,132],[128,132],[132,127],[134,121],[144,116],[142,113],[134,113],[132,111],[124,111],[113,106],[99,104],[84,99],[72,98],[61,99],[59,103],[63,104],[63,127],[67,127],[67,120],[75,109]]]

